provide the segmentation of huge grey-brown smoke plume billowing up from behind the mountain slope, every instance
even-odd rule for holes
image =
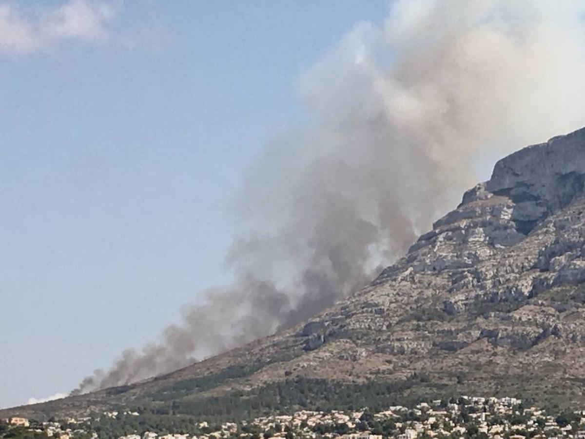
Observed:
[[[300,80],[310,122],[249,170],[235,282],[78,392],[169,372],[364,286],[474,183],[478,160],[585,121],[582,2],[403,0]]]

